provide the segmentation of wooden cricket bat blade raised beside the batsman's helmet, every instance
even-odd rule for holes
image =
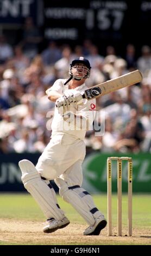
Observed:
[[[108,93],[115,92],[116,90],[122,89],[124,87],[132,86],[133,84],[142,81],[142,74],[139,70],[129,72],[123,76],[108,80],[104,83],[97,84],[87,90],[83,94],[83,98],[91,100],[99,96],[103,96]]]

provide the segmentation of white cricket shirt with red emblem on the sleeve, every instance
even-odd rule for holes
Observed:
[[[53,86],[49,90],[54,90],[60,94],[64,94],[65,90],[68,90],[68,84],[64,86],[64,83],[66,82],[66,79],[58,79],[55,81]],[[75,88],[74,90],[78,90],[78,92],[83,93],[87,89],[85,83],[81,86]],[[75,104],[70,105],[70,111],[73,112],[76,115],[81,115],[84,117],[84,121],[82,121],[80,118],[72,118],[73,115],[71,115],[70,123],[68,121],[64,120],[61,113],[59,113],[58,108],[55,107],[54,111],[54,117],[52,121],[52,137],[57,134],[66,134],[73,136],[75,138],[79,138],[84,140],[86,130],[92,129],[92,123],[95,119],[95,113],[96,113],[96,100],[92,99],[90,101],[84,99],[84,105],[77,106]],[[71,120],[72,119],[72,120]],[[86,123],[89,123],[89,129],[86,127]]]

